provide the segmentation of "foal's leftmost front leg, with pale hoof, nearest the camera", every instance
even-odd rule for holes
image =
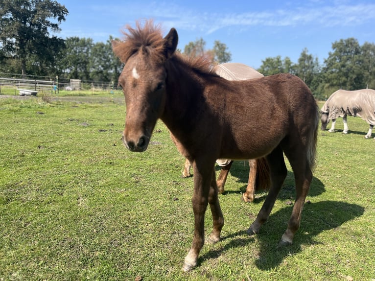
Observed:
[[[194,212],[194,236],[191,248],[184,260],[183,270],[190,271],[197,265],[198,255],[205,243],[205,212],[207,209],[212,182],[213,163],[210,166],[200,165],[194,167],[194,191],[193,191],[193,212]]]

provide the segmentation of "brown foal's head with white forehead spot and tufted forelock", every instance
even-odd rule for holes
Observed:
[[[166,98],[164,64],[177,47],[177,31],[172,28],[163,38],[158,26],[127,26],[124,41],[113,41],[115,54],[125,63],[118,82],[125,95],[126,119],[122,141],[131,151],[147,149]]]

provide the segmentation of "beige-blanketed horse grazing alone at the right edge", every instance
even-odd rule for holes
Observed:
[[[357,91],[338,90],[331,94],[321,109],[322,130],[326,130],[329,120],[332,120],[328,132],[335,131],[337,117],[342,117],[344,122],[344,134],[348,134],[347,116],[359,116],[369,125],[369,131],[365,138],[371,138],[375,125],[375,91],[363,89]],[[375,139],[375,138],[374,138]]]

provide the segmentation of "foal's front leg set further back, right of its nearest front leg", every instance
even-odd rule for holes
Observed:
[[[214,244],[220,240],[221,229],[224,225],[224,216],[220,208],[214,170],[212,170],[209,204],[212,213],[213,228],[207,241]]]

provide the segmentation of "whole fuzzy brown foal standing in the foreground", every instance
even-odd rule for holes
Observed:
[[[175,52],[177,31],[163,37],[151,21],[127,27],[113,50],[125,66],[118,79],[127,107],[123,142],[134,152],[147,149],[160,118],[193,164],[194,235],[184,260],[188,272],[197,265],[204,237],[204,217],[210,205],[213,229],[208,240],[220,240],[224,217],[215,181],[216,159],[257,159],[265,156],[271,187],[257,218],[248,229],[257,234],[275,204],[287,170],[293,169],[296,201],[280,245],[288,245],[300,226],[301,212],[315,164],[319,112],[298,77],[278,74],[228,81],[213,73],[210,63]]]

